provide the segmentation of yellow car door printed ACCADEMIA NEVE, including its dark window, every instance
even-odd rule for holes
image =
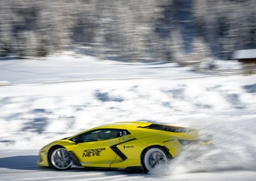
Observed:
[[[97,129],[77,136],[78,144],[69,148],[76,155],[82,166],[110,167],[116,153],[111,145],[119,144],[118,129]]]

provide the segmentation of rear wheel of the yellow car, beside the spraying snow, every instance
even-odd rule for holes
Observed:
[[[160,147],[150,147],[142,156],[142,166],[146,172],[166,168],[167,162],[167,154]]]

